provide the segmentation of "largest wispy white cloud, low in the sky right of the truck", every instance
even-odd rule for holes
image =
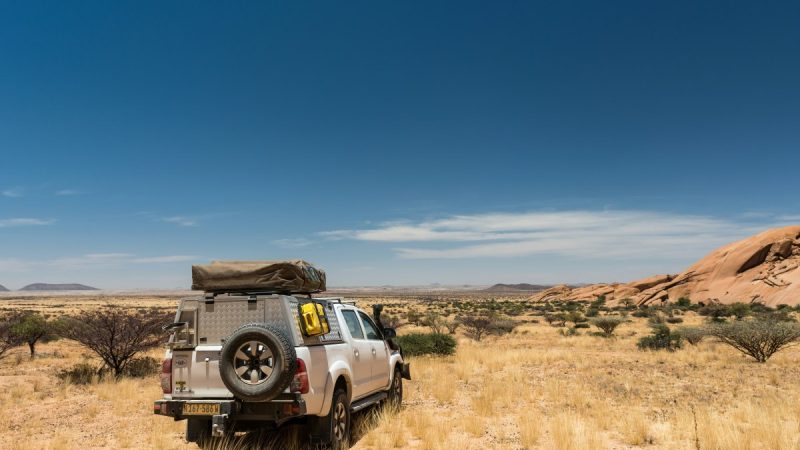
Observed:
[[[729,220],[652,211],[558,211],[456,215],[320,233],[329,239],[417,243],[402,258],[454,259],[565,255],[685,257],[757,232]]]

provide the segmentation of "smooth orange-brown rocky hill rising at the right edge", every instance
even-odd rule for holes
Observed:
[[[534,301],[629,298],[637,304],[688,297],[694,302],[758,301],[800,304],[800,226],[767,230],[714,250],[677,275],[655,275],[630,283],[554,286]]]

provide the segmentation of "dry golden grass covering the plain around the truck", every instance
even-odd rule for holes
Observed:
[[[57,314],[107,299],[71,301],[28,298],[4,307]],[[413,359],[403,410],[361,418],[353,449],[800,448],[800,350],[767,364],[713,342],[638,351],[636,340],[647,332],[634,319],[615,339],[563,337],[546,324],[480,343],[459,335],[456,355]],[[33,361],[25,351],[0,361],[0,448],[193,448],[183,442],[183,422],[152,414],[161,396],[155,377],[65,385],[55,372],[91,358],[88,352],[67,341],[41,345]]]

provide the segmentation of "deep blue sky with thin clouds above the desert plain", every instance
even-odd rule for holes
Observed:
[[[678,272],[800,223],[794,2],[0,4],[0,284]]]

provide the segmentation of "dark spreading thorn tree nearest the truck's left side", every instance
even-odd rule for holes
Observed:
[[[66,319],[62,335],[96,353],[119,378],[134,356],[164,342],[161,327],[169,322],[169,315],[154,309],[108,306]]]

